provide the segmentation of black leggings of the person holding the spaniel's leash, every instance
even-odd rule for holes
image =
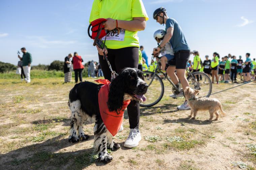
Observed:
[[[125,47],[120,49],[108,49],[107,58],[112,69],[116,73],[120,73],[126,67],[138,68],[139,49],[138,47]],[[99,54],[98,54],[99,55]],[[105,79],[111,80],[111,72],[107,65],[107,61],[99,55],[100,67]],[[130,129],[138,128],[139,126],[139,104],[132,100],[127,107],[129,116]]]

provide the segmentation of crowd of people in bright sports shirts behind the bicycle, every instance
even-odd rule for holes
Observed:
[[[214,52],[212,60],[206,55],[203,62],[198,51],[192,51],[191,53],[194,55],[194,59],[193,62],[189,60],[188,69],[193,72],[204,72],[212,77],[212,83],[214,83],[214,80],[217,84],[238,83],[238,76],[243,83],[256,79],[256,61],[255,58],[251,60],[250,53],[246,53],[246,60],[243,61],[241,55],[239,59],[231,54],[220,58],[220,55]]]

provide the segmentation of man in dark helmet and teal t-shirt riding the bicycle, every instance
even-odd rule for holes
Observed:
[[[183,31],[179,25],[179,23],[167,16],[167,11],[164,7],[157,8],[153,13],[153,18],[159,24],[165,24],[165,32],[166,35],[161,43],[158,45],[157,48],[153,49],[153,53],[157,54],[159,51],[165,46],[167,42],[170,42],[173,52],[174,52],[174,59],[170,60],[168,64],[170,66],[175,67],[168,67],[166,72],[168,75],[173,75],[174,71],[176,70],[177,76],[175,79],[180,80],[182,88],[185,89],[189,87],[188,80],[186,78],[186,67],[187,62],[190,56],[190,48],[188,43],[185,39]],[[175,75],[176,76],[176,75]],[[178,79],[179,78],[179,79]],[[174,80],[175,80],[174,79]],[[176,86],[179,84],[179,81],[173,82]],[[184,103],[177,107],[179,110],[188,110],[190,109],[188,105],[188,101],[185,100]]]

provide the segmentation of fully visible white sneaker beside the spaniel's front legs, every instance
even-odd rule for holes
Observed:
[[[130,134],[126,141],[124,142],[124,147],[135,147],[139,144],[141,140],[139,129],[130,129]]]

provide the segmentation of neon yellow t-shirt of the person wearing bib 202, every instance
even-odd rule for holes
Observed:
[[[141,0],[94,0],[89,22],[98,18],[132,20],[133,17],[149,19]],[[106,40],[109,49],[139,47],[137,31],[125,30],[124,41]]]

